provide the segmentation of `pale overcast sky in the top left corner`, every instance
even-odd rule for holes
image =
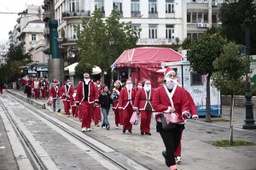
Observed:
[[[0,0],[0,43],[8,41],[9,31],[17,24],[18,14],[26,9],[26,5],[42,5],[44,0]]]

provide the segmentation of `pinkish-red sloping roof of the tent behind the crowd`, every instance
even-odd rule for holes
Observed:
[[[162,62],[181,61],[182,55],[171,48],[131,48],[115,60],[115,67],[160,67]]]

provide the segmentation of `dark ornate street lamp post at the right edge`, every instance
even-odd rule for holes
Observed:
[[[238,3],[239,0],[228,0],[230,4],[232,3]],[[246,43],[246,54],[247,56],[250,56],[250,25],[251,25],[251,20],[250,20],[250,7],[252,3],[251,0],[247,0],[247,9],[245,13],[245,43]],[[247,65],[247,71],[250,70],[250,65]],[[252,102],[252,91],[251,91],[251,80],[250,80],[250,75],[247,73],[246,75],[246,80],[247,80],[247,88],[246,88],[246,102],[245,102],[245,107],[246,107],[246,119],[244,120],[244,125],[242,126],[243,129],[256,129],[255,126],[255,120],[253,118],[253,102]]]

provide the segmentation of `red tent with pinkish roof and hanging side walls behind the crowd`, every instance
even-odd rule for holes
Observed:
[[[157,72],[161,69],[161,63],[181,60],[182,55],[171,48],[143,47],[125,50],[113,65],[118,70],[125,67],[139,68],[139,71],[131,69],[131,80],[137,84],[146,78],[156,88],[159,86],[158,78],[163,77],[162,72]]]

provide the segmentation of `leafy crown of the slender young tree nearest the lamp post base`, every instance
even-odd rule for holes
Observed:
[[[243,76],[246,75],[247,65],[251,59],[245,55],[237,54],[240,46],[229,42],[224,46],[224,52],[213,62],[217,72],[212,75],[212,84],[220,91],[237,94],[240,89],[244,89]]]

